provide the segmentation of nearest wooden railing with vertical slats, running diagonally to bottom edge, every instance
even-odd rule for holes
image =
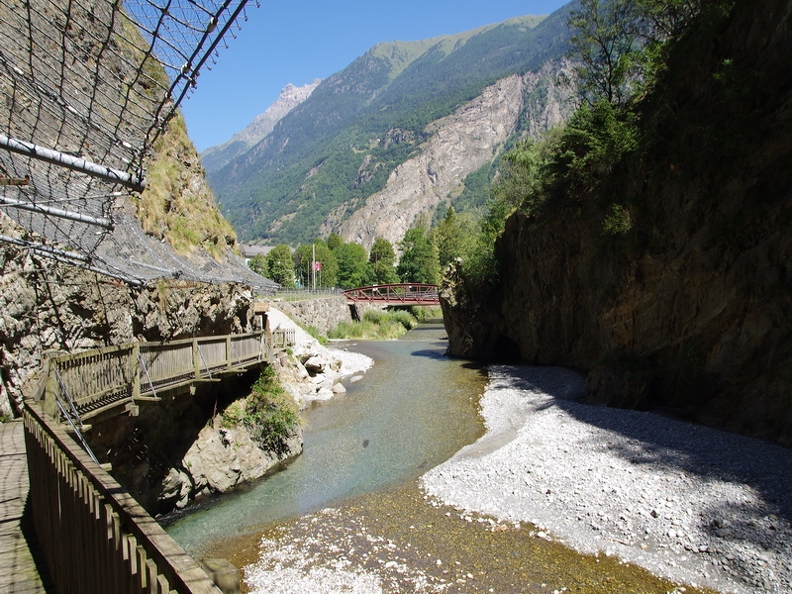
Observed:
[[[40,402],[24,422],[36,534],[60,594],[221,594]]]

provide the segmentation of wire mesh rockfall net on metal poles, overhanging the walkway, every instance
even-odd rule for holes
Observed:
[[[274,289],[234,259],[177,256],[122,212],[246,4],[0,0],[0,209],[32,233],[0,240],[129,282]]]

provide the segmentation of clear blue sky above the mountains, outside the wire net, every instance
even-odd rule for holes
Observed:
[[[550,14],[567,0],[249,0],[247,22],[204,69],[182,103],[199,151],[228,140],[288,83],[302,86],[343,70],[382,41],[460,33],[515,16]],[[222,45],[221,45],[222,48]]]

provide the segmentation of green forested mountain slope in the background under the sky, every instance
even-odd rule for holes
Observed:
[[[561,9],[547,18],[521,17],[454,36],[373,47],[322,81],[243,155],[220,168],[206,163],[224,214],[246,240],[296,244],[321,230],[370,244],[374,231],[366,231],[366,222],[349,228],[342,223],[384,190],[400,165],[424,151],[443,118],[480,102],[499,81],[533,76],[531,84],[503,83],[516,93],[503,98],[514,104],[507,121],[490,124],[503,130],[481,140],[483,156],[473,163],[463,159],[464,170],[433,191],[421,210],[431,213],[440,201],[457,200],[468,186],[476,189],[471,194],[468,187],[462,196],[463,209],[481,204],[494,168],[478,173],[483,181],[464,179],[492,162],[515,134],[560,120],[563,108],[547,64],[559,64],[567,50],[566,18]],[[543,68],[537,82],[541,77],[532,73]],[[526,116],[526,104],[541,112],[542,124]],[[431,183],[432,172],[444,167],[445,160],[435,160],[414,183]],[[377,217],[391,216],[375,210]],[[403,213],[399,228],[414,216]]]

